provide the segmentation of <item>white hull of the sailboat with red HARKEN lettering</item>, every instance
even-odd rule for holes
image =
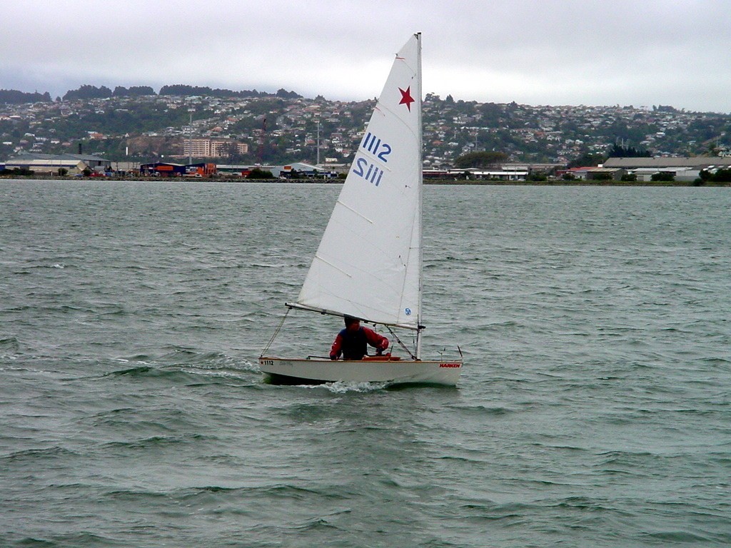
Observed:
[[[461,361],[380,361],[368,359],[287,359],[260,357],[262,373],[281,384],[322,382],[385,382],[388,384],[442,384],[455,386],[462,371]]]

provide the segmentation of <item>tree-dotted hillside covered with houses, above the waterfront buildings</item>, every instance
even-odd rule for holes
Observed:
[[[0,103],[0,159],[83,149],[112,161],[348,164],[374,105],[283,91],[175,95],[185,86],[168,88]],[[731,145],[731,115],[662,105],[535,106],[427,94],[423,112],[424,165],[433,170],[474,151],[499,151],[514,164],[571,167],[601,161],[618,143],[664,157],[723,156]],[[208,148],[192,145],[206,140]]]

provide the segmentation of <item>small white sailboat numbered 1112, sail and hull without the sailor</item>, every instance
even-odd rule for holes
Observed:
[[[287,312],[303,309],[385,326],[399,343],[395,330],[407,330],[413,349],[401,343],[408,357],[362,360],[271,357],[275,332],[259,358],[270,381],[457,384],[461,359],[421,359],[421,97],[418,33],[395,56],[297,301],[285,303]]]

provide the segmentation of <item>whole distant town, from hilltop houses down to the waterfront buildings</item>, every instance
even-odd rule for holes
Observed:
[[[157,94],[86,85],[56,100],[0,90],[0,169],[193,177],[257,170],[273,177],[337,178],[352,160],[373,105],[374,99],[338,102],[284,90],[183,85]],[[531,106],[427,94],[423,120],[425,176],[435,178],[643,180],[656,169],[651,175],[670,170],[674,178],[691,179],[703,170],[727,169],[731,156],[731,115],[663,105]],[[618,151],[638,160],[615,165],[610,156]],[[481,152],[498,156],[465,164],[466,156]]]

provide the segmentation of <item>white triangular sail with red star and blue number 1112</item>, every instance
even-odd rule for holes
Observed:
[[[421,34],[396,54],[297,308],[418,329]]]

